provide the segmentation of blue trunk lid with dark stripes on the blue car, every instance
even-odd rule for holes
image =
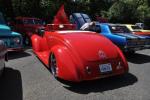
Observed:
[[[115,35],[125,37],[126,39],[145,39],[143,36],[139,36],[132,33],[115,33]]]

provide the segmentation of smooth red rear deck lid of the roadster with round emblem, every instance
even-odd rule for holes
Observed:
[[[114,44],[101,35],[75,33],[63,35],[63,37],[71,45],[72,50],[75,50],[78,56],[86,61],[98,61],[118,57],[118,52]]]

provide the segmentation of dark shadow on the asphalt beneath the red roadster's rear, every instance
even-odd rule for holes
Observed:
[[[123,76],[115,76],[95,81],[84,81],[78,84],[65,85],[64,88],[79,94],[88,94],[91,92],[104,92],[114,90],[137,82],[136,76],[128,73]]]

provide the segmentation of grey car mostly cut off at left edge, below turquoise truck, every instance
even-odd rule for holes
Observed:
[[[5,69],[5,60],[7,61],[7,48],[2,40],[0,40],[0,76]]]

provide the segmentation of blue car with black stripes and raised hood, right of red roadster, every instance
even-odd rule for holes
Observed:
[[[82,15],[82,18],[79,16]],[[86,14],[84,14],[85,16]],[[72,15],[76,24],[86,23],[83,13],[75,13]],[[88,16],[88,15],[86,15]],[[86,17],[87,18],[87,17]],[[89,18],[89,17],[88,17]],[[82,19],[82,20],[81,20]],[[89,19],[86,19],[89,20]],[[81,21],[81,22],[80,22]],[[110,39],[114,44],[119,46],[124,52],[134,53],[137,50],[147,49],[150,47],[149,37],[132,34],[130,30],[121,24],[95,23],[94,30]]]

